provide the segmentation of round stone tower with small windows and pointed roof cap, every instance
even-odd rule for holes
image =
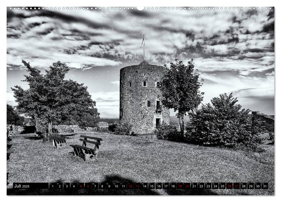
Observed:
[[[170,124],[169,109],[162,106],[157,87],[163,73],[164,67],[145,60],[120,70],[120,121],[130,123],[135,133],[151,133],[162,121]]]

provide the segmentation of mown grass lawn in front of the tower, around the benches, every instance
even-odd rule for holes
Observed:
[[[103,139],[97,160],[84,162],[71,144],[86,134]],[[34,134],[12,137],[7,194],[274,195],[274,147],[263,153],[151,139],[79,133],[55,149]],[[88,146],[88,145],[87,145]],[[12,190],[13,182],[268,182],[268,190]]]

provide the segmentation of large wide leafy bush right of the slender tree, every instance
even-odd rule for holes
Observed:
[[[186,139],[189,143],[209,146],[256,148],[259,134],[265,132],[258,121],[252,122],[250,110],[236,104],[237,98],[226,93],[213,98],[200,110],[190,113]]]

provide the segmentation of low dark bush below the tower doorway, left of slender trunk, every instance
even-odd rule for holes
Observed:
[[[156,129],[156,138],[159,140],[168,140],[174,142],[183,142],[183,136],[181,132],[177,130],[177,126],[170,126],[162,123],[159,128]]]

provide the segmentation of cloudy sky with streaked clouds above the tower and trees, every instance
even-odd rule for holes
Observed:
[[[22,59],[42,73],[59,60],[67,79],[88,86],[101,117],[119,117],[119,72],[143,60],[144,30],[148,63],[194,58],[203,103],[233,92],[243,108],[274,114],[273,9],[7,8],[7,103],[16,105],[10,87],[28,87]]]

